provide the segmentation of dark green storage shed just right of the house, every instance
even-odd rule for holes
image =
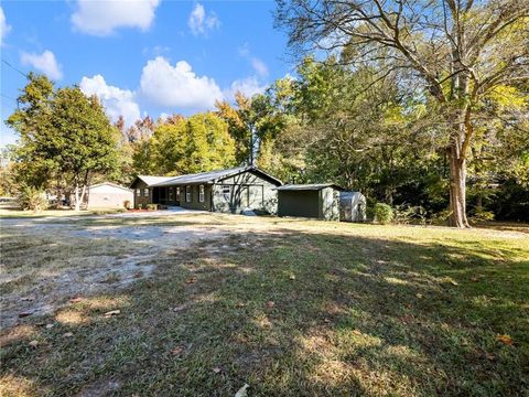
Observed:
[[[278,215],[339,219],[339,193],[334,183],[287,184],[278,190]]]

